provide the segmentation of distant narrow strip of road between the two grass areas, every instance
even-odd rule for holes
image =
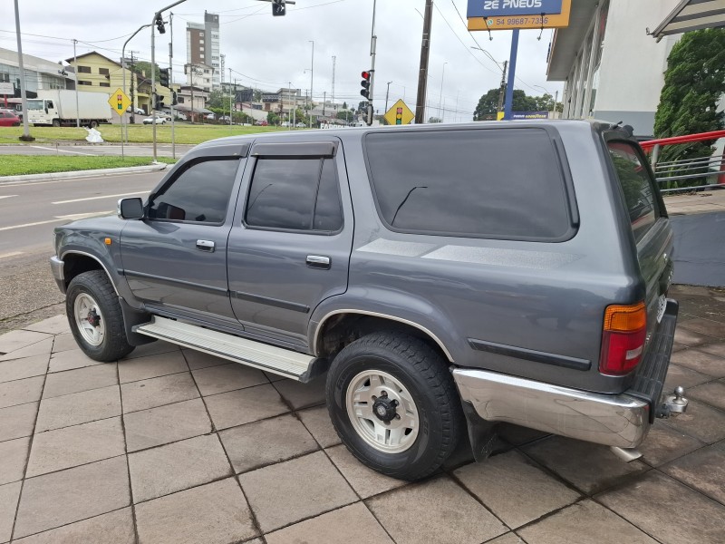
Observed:
[[[193,145],[177,145],[176,158],[179,159],[184,153],[193,148]],[[37,143],[25,145],[0,145],[0,155],[63,155],[67,157],[85,156],[120,157],[121,154],[129,157],[151,157],[153,145],[150,143],[129,143],[121,150],[120,143],[96,143],[96,144],[53,144]],[[159,143],[156,145],[156,154],[159,157],[172,157],[170,143]]]

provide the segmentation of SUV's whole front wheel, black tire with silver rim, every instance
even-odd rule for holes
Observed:
[[[88,314],[81,313],[89,309]],[[73,278],[65,294],[65,314],[82,352],[95,361],[110,363],[133,351],[126,338],[119,297],[101,270]],[[86,323],[89,325],[82,328]],[[98,338],[92,338],[94,335]]]

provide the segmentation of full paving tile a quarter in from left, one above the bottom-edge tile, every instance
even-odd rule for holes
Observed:
[[[129,454],[134,502],[231,476],[216,434],[207,434]]]

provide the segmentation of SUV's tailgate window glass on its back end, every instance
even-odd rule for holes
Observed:
[[[610,141],[607,147],[622,187],[634,239],[640,241],[660,217],[649,171],[631,143]]]

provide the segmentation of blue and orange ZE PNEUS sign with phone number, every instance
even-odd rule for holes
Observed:
[[[469,0],[469,30],[565,28],[571,8],[572,0]]]

